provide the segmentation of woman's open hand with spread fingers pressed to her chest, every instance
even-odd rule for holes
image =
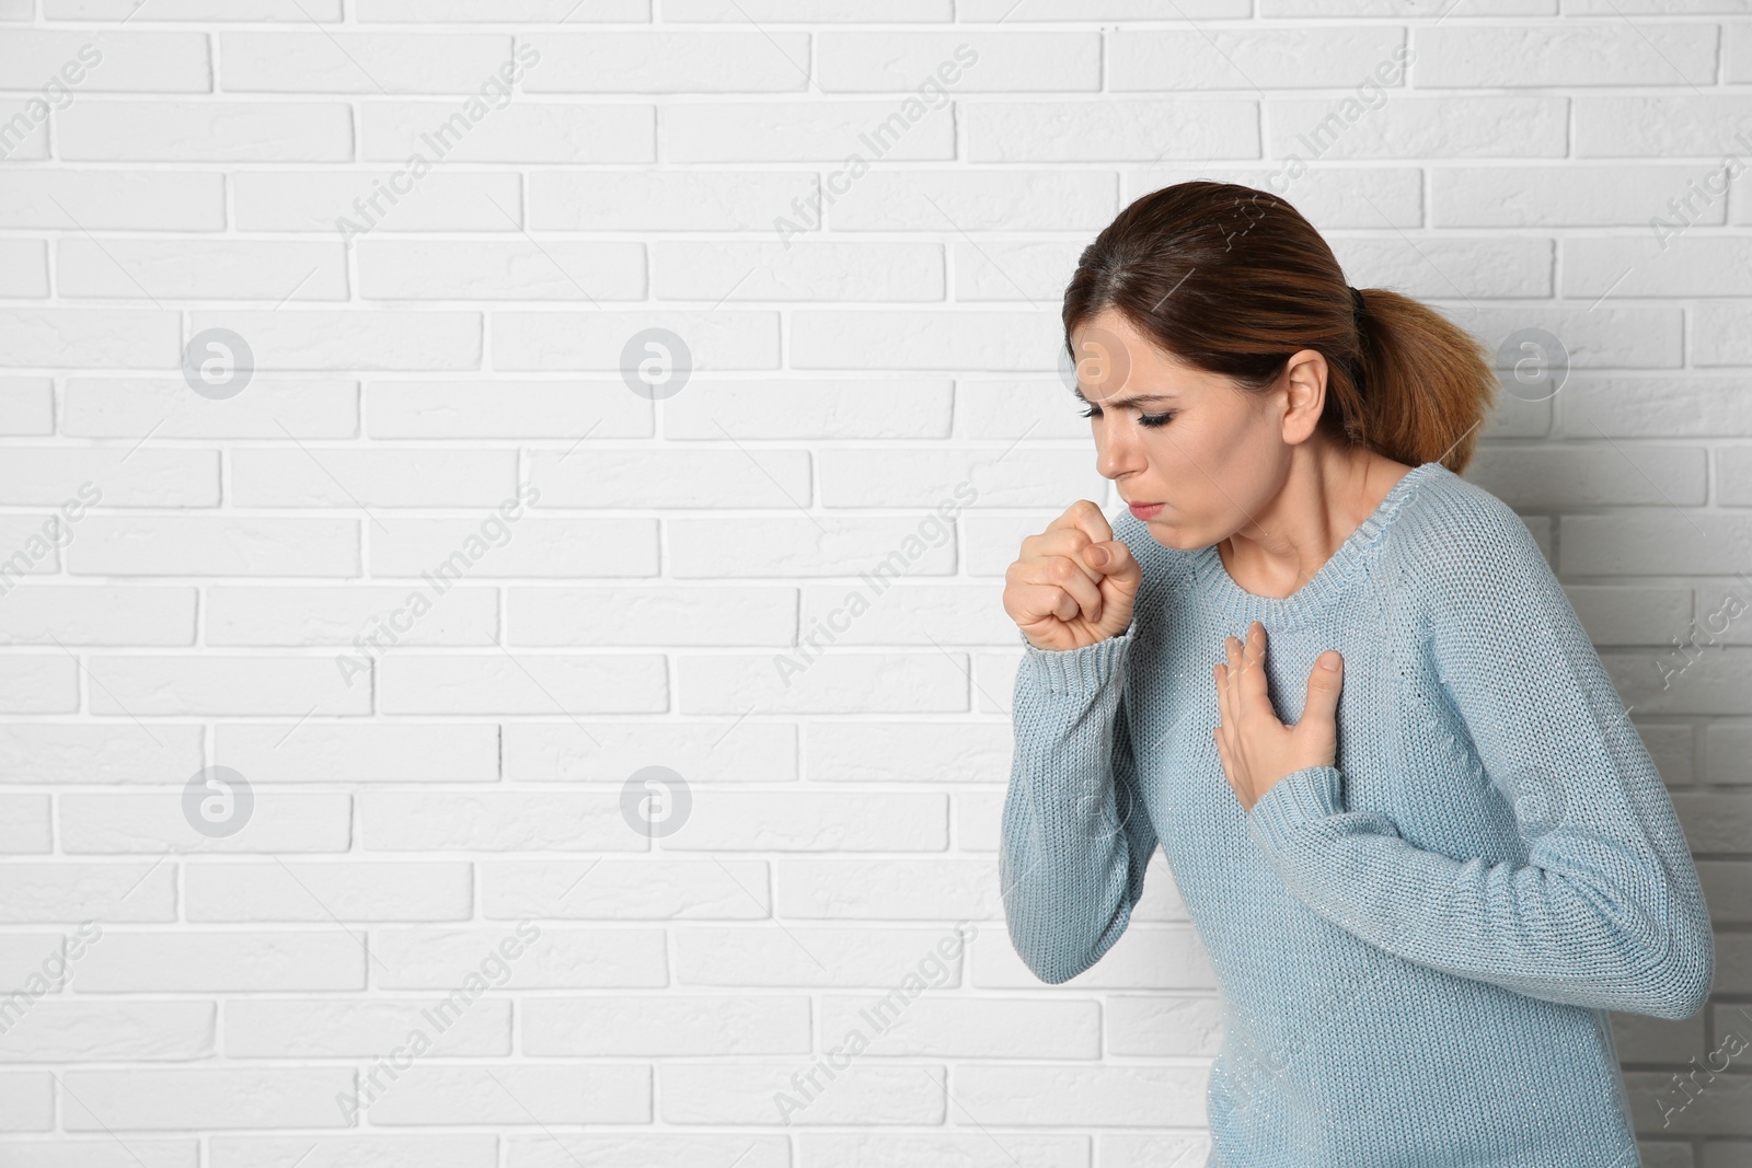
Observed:
[[[1309,672],[1309,699],[1302,720],[1286,727],[1272,709],[1265,685],[1265,625],[1253,622],[1247,641],[1226,637],[1228,664],[1214,665],[1221,723],[1216,753],[1242,809],[1253,811],[1265,792],[1291,770],[1330,767],[1339,756],[1339,690],[1344,657],[1326,650]]]

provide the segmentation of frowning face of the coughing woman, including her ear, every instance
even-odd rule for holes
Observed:
[[[1246,394],[1219,373],[1176,361],[1113,310],[1070,340],[1095,466],[1156,543],[1195,550],[1249,529],[1305,438],[1307,357],[1319,362],[1319,385],[1325,359],[1303,350],[1270,392]]]

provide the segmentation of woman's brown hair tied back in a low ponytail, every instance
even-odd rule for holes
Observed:
[[[1360,319],[1326,240],[1281,196],[1179,182],[1139,198],[1083,249],[1065,287],[1065,348],[1076,362],[1070,331],[1113,308],[1242,392],[1314,348],[1330,369],[1330,434],[1458,475],[1496,403],[1489,350],[1409,296],[1374,287],[1363,301]]]

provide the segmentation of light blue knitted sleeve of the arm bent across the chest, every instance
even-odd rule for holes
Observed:
[[[1673,804],[1531,532],[1498,508],[1417,559],[1433,664],[1521,855],[1416,848],[1389,814],[1344,809],[1337,767],[1279,779],[1249,832],[1303,904],[1402,958],[1549,1002],[1689,1017],[1715,958]]]

